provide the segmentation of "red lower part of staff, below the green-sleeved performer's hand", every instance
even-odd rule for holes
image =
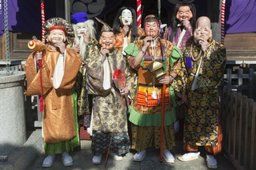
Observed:
[[[162,85],[162,112],[161,112],[161,138],[160,138],[160,162],[162,162],[163,154],[163,134],[165,128],[165,95],[166,95],[166,85]]]

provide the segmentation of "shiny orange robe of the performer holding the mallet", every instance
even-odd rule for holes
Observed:
[[[74,49],[67,48],[64,53],[64,75],[58,89],[54,89],[52,78],[60,53],[49,47],[46,47],[43,53],[42,69],[38,69],[38,72],[34,53],[31,53],[26,61],[26,95],[42,93],[43,139],[46,144],[56,144],[71,140],[77,135],[74,126],[72,88],[82,62]]]

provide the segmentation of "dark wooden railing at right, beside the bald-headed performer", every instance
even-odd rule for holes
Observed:
[[[256,169],[256,102],[254,70],[227,70],[222,93],[223,150],[237,169]],[[232,85],[236,79],[237,85]]]

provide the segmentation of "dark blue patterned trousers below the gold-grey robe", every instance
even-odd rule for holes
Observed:
[[[112,137],[112,139],[111,139]],[[111,144],[110,144],[111,140]],[[130,149],[130,138],[128,132],[108,133],[94,131],[92,136],[92,150],[94,155],[100,155],[108,151],[116,153],[118,156],[126,154]]]

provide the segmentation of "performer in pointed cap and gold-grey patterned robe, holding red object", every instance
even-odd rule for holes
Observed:
[[[108,147],[114,160],[122,160],[129,152],[130,138],[127,127],[126,97],[133,88],[133,82],[125,58],[114,48],[114,32],[105,22],[99,45],[90,42],[86,53],[87,88],[94,94],[92,116],[93,164],[100,164],[102,154]],[[114,70],[122,69],[126,75],[126,87],[118,89],[112,80]],[[107,154],[108,155],[108,154]]]

